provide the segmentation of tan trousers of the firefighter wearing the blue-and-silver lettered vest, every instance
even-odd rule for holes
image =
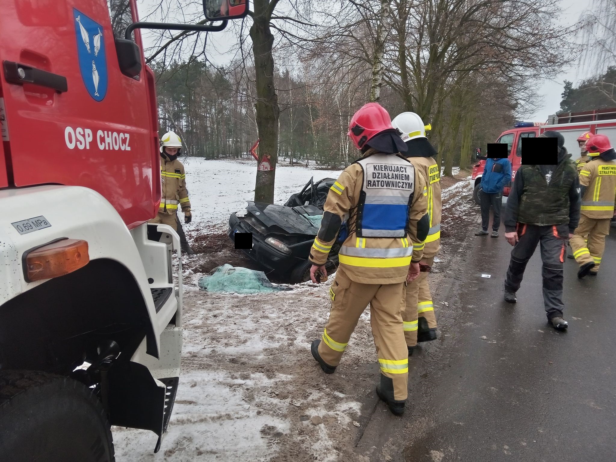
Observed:
[[[338,267],[331,283],[330,318],[323,330],[318,354],[338,366],[360,315],[370,304],[370,324],[381,373],[392,379],[394,399],[407,399],[408,350],[404,341],[402,310],[404,283],[360,284]]]

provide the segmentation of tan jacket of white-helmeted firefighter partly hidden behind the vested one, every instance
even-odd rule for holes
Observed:
[[[434,257],[440,249],[440,169],[431,157],[407,157],[416,169],[421,170],[428,179],[428,216],[430,217],[430,230],[426,237],[424,258]]]

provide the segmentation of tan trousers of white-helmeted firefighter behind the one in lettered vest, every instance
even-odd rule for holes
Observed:
[[[421,259],[421,264],[432,267],[434,265],[434,257]],[[405,286],[405,310],[402,318],[404,321],[404,338],[407,341],[407,346],[415,346],[417,344],[417,328],[420,317],[426,318],[429,329],[437,327],[434,303],[432,302],[432,294],[428,284],[428,274],[428,272],[420,272],[415,280]]]

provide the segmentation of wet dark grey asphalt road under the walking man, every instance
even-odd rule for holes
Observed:
[[[413,356],[407,415],[378,419],[403,439],[390,460],[616,461],[612,233],[598,277],[578,280],[575,261],[565,261],[566,332],[546,323],[539,249],[511,305],[502,299],[511,251],[504,229],[500,238],[466,240],[459,272],[442,288],[447,298],[434,296],[449,301],[451,318]]]

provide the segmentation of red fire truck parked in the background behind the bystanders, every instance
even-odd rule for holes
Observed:
[[[509,160],[513,169],[512,181],[521,165],[522,138],[537,137],[547,130],[556,130],[562,133],[565,137],[565,147],[571,154],[572,159],[575,160],[581,155],[577,137],[583,132],[601,133],[616,142],[616,108],[554,115],[550,116],[547,123],[516,122],[513,129],[502,132],[496,140],[497,143],[507,144]],[[474,200],[479,204],[479,189],[481,177],[484,173],[485,158],[482,159],[476,152],[476,160],[478,162],[472,169],[469,182],[471,187],[474,188]],[[503,195],[508,196],[510,188],[511,184],[507,185]]]

